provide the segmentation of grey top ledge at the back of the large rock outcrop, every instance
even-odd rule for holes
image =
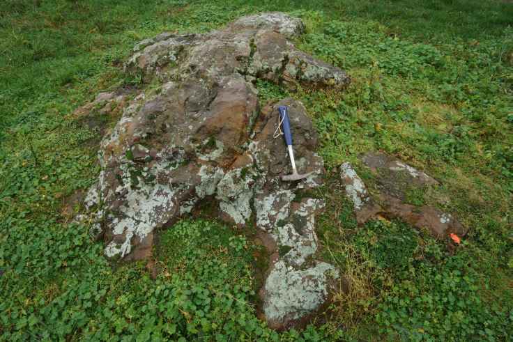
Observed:
[[[204,35],[162,33],[144,40],[125,63],[125,71],[145,81],[183,80],[190,76],[218,81],[243,75],[280,84],[343,87],[351,81],[339,68],[301,52],[289,41],[305,26],[284,13],[240,18],[225,29]]]

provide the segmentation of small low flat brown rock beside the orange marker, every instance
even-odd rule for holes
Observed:
[[[449,213],[431,205],[404,203],[408,189],[438,185],[434,178],[381,153],[368,153],[361,160],[376,178],[378,194],[375,196],[369,194],[365,183],[351,164],[344,163],[340,166],[340,178],[346,189],[346,196],[353,202],[358,224],[381,216],[399,218],[420,229],[427,228],[436,238],[445,238],[450,233],[466,235],[467,229]]]

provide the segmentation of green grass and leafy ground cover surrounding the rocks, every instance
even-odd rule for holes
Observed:
[[[177,224],[159,238],[154,281],[140,263],[112,268],[70,223],[77,208],[63,209],[99,172],[98,132],[74,111],[137,86],[121,72],[137,41],[263,10],[303,17],[296,44],[353,77],[342,93],[257,84],[262,100],[292,95],[312,115],[329,175],[321,254],[349,282],[314,325],[285,334],[257,318],[256,252],[240,232]],[[512,17],[511,3],[477,0],[4,1],[0,340],[512,339]],[[407,200],[454,212],[470,227],[464,243],[397,221],[358,228],[336,168],[350,161],[365,176],[367,150],[440,180]]]

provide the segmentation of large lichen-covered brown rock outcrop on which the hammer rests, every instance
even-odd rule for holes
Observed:
[[[105,255],[151,254],[157,228],[214,199],[220,217],[245,226],[252,215],[272,249],[261,290],[270,325],[303,322],[326,302],[332,265],[314,261],[316,212],[323,202],[299,192],[323,181],[316,132],[291,98],[260,109],[257,78],[291,86],[344,86],[349,77],[296,49],[289,38],[303,22],[283,13],[243,17],[204,35],[162,33],[140,42],[126,72],[156,78],[125,104],[116,127],[100,144],[101,172],[85,205],[91,231],[105,239]],[[273,137],[277,106],[289,106],[296,163],[313,171],[298,182],[290,173],[283,139]]]

